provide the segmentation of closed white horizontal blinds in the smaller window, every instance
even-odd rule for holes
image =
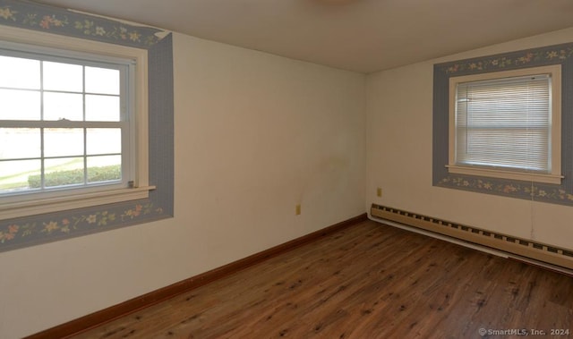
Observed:
[[[458,83],[456,165],[551,173],[551,76]]]

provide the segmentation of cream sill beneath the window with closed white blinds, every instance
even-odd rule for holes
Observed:
[[[451,174],[466,174],[475,176],[487,176],[492,178],[520,180],[525,182],[543,182],[560,184],[561,179],[564,177],[559,174],[535,174],[525,172],[504,171],[498,169],[479,168],[479,167],[464,167],[458,165],[446,165]]]

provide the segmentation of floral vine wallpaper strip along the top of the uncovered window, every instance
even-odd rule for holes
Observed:
[[[150,47],[156,44],[159,40],[156,33],[161,31],[17,0],[0,0],[0,24],[76,38],[90,37],[132,47]]]

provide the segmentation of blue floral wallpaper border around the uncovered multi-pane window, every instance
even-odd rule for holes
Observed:
[[[148,51],[150,118],[149,199],[0,220],[0,252],[17,250],[76,236],[148,223],[173,216],[174,205],[174,89],[171,34],[126,25],[87,14],[72,13],[29,1],[0,0],[2,25],[74,36]]]

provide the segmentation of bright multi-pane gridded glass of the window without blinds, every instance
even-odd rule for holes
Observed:
[[[26,78],[0,80],[0,196],[124,184],[127,66],[15,54],[0,55]]]

